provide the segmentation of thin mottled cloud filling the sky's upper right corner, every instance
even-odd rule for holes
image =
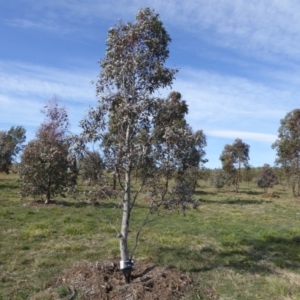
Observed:
[[[156,4],[157,1],[154,1]],[[170,2],[168,2],[170,3]],[[194,32],[210,43],[243,49],[248,55],[289,55],[299,59],[298,1],[179,1],[158,5],[167,22]],[[169,9],[172,7],[172,9]],[[163,20],[165,20],[163,18]],[[251,51],[251,52],[249,52]],[[256,53],[253,53],[256,52]]]

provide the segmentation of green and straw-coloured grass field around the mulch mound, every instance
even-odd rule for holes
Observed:
[[[300,299],[300,199],[281,186],[274,191],[280,198],[251,184],[236,194],[202,183],[197,210],[152,216],[135,260],[190,272],[188,299]],[[28,200],[18,195],[16,175],[0,175],[0,299],[53,299],[46,290],[62,270],[118,257],[111,225],[119,228],[121,210],[113,203]],[[131,243],[146,213],[140,200]],[[58,288],[60,295],[65,299]]]

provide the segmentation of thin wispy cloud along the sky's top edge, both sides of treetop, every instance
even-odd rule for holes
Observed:
[[[204,38],[264,59],[286,55],[300,60],[300,3],[296,0],[44,0],[34,4],[23,19],[12,19],[10,24],[46,30],[60,26],[64,32],[66,22],[97,24],[105,19],[113,25],[117,19],[133,20],[137,9],[150,6],[168,26],[192,32],[192,39]]]

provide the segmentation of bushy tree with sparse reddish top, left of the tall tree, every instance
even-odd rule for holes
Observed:
[[[22,197],[45,196],[45,203],[48,203],[52,196],[64,195],[66,187],[76,184],[77,167],[76,158],[69,151],[66,110],[54,99],[42,112],[46,119],[36,139],[24,149],[19,172]]]

